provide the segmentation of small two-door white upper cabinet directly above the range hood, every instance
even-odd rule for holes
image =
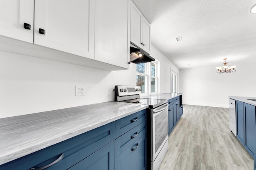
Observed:
[[[130,6],[130,16],[130,41],[150,53],[150,23],[133,2]]]

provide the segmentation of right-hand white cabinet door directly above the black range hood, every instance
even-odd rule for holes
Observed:
[[[142,49],[150,54],[150,23],[143,17],[142,20]]]

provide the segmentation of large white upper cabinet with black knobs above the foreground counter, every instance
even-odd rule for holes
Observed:
[[[0,50],[128,69],[129,5],[129,0],[0,0]]]

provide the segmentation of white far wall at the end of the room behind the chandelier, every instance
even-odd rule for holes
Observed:
[[[183,104],[228,107],[228,96],[256,96],[254,63],[236,63],[234,73],[215,67],[180,69]]]

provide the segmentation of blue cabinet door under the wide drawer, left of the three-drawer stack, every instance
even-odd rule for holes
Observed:
[[[111,142],[68,170],[114,170],[115,142]]]

